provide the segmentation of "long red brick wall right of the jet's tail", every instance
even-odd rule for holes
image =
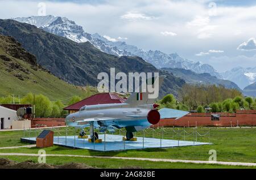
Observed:
[[[159,126],[256,126],[256,111],[238,111],[237,113],[220,113],[220,121],[212,121],[210,113],[191,113],[180,119],[161,119]]]

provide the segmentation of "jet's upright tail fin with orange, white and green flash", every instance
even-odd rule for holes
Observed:
[[[159,88],[158,92],[156,92],[157,95],[159,95],[159,90],[163,84],[164,78],[166,78],[166,76],[157,76],[155,78],[147,79],[147,82],[152,82],[154,87],[155,85],[158,85]],[[141,92],[142,86],[139,87],[139,89],[140,91],[132,93],[125,103],[129,104],[131,107],[137,107],[139,105],[153,104],[158,98],[158,96],[152,98],[153,93],[148,92],[148,88],[146,89],[146,92]]]

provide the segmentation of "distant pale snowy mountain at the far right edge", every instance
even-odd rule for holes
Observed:
[[[241,89],[256,82],[256,67],[235,67],[230,71],[221,73],[224,79],[231,80]]]

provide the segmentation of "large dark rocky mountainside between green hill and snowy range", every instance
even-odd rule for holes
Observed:
[[[13,36],[24,49],[34,54],[38,63],[65,82],[75,85],[98,84],[97,75],[109,72],[158,72],[158,69],[139,57],[116,57],[96,49],[89,42],[77,43],[67,38],[53,35],[34,25],[15,20],[0,20],[0,33]],[[168,72],[161,95],[174,93],[185,83]]]

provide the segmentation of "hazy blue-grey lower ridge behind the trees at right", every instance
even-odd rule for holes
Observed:
[[[230,82],[229,80],[218,79],[216,76],[212,76],[209,73],[198,74],[191,70],[185,70],[182,68],[161,68],[161,70],[168,71],[175,76],[184,79],[189,84],[215,84],[223,85],[229,89],[237,89],[242,92],[237,84]]]

